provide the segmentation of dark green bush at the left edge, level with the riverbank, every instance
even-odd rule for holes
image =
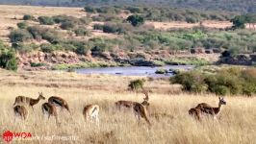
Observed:
[[[0,67],[7,70],[17,70],[17,61],[12,49],[6,49],[0,52]]]

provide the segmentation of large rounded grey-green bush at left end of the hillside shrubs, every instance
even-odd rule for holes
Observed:
[[[25,30],[13,30],[9,37],[11,39],[11,42],[13,42],[13,43],[24,42],[24,41],[32,38],[30,33]]]

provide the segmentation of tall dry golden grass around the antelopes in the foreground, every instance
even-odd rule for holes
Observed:
[[[125,90],[127,83],[136,77],[55,72],[13,73],[4,70],[1,70],[0,74],[0,133],[10,130],[31,132],[34,136],[77,136],[77,141],[34,140],[18,141],[18,143],[256,143],[255,97],[227,97],[227,106],[223,108],[218,121],[205,118],[199,123],[189,116],[188,109],[201,102],[217,106],[217,97],[185,93],[167,94],[161,90],[162,86],[167,86],[166,81],[150,81],[146,86],[155,87],[155,91],[150,93],[149,99],[151,104],[149,119],[153,123],[152,128],[149,129],[144,122],[138,125],[131,111],[115,111],[114,103],[117,100],[141,102],[143,97],[141,93]],[[31,82],[34,84],[27,84]],[[51,83],[59,86],[47,86]],[[62,84],[69,84],[69,87]],[[109,88],[88,88],[88,85],[101,87],[109,85]],[[169,85],[168,88],[171,86]],[[54,118],[47,121],[42,117],[41,101],[35,106],[35,112],[30,109],[27,121],[13,123],[14,97],[26,95],[36,98],[38,91],[42,91],[46,98],[52,95],[64,97],[70,105],[72,116],[66,111],[60,111],[61,126],[57,127]],[[99,128],[85,123],[82,116],[83,107],[94,103],[101,108]]]

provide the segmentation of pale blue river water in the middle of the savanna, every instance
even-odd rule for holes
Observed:
[[[97,67],[97,68],[81,68],[75,71],[80,74],[109,74],[119,76],[148,76],[148,77],[170,77],[172,73],[167,74],[155,74],[157,69],[164,68],[169,69],[185,69],[190,70],[192,65],[166,65],[160,67],[150,66],[128,66],[128,67]]]

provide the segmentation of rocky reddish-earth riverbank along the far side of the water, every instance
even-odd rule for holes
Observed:
[[[141,52],[119,55],[82,56],[72,52],[54,52],[52,54],[33,52],[29,54],[19,54],[18,67],[22,70],[72,70],[91,67],[115,67],[115,66],[165,66],[165,65],[208,65],[218,60],[217,54],[209,55],[169,55],[159,59],[159,55],[150,57],[139,57],[145,55]],[[107,55],[107,54],[106,54]],[[136,57],[135,57],[136,56]],[[209,59],[211,58],[211,59]]]

